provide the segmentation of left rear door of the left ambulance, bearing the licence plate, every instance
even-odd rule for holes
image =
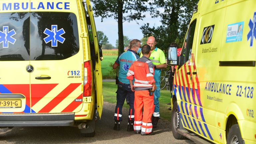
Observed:
[[[0,1],[0,114],[30,113],[29,10],[12,5]]]

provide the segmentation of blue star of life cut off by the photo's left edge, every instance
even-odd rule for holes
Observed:
[[[3,43],[3,48],[8,48],[9,43],[14,44],[16,39],[13,38],[16,34],[15,30],[9,31],[9,26],[3,26],[3,31],[0,31],[0,44]]]

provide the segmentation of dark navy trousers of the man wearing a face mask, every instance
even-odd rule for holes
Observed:
[[[124,101],[126,96],[129,99],[129,116],[128,119],[134,120],[134,92],[131,90],[130,84],[121,84],[119,83],[117,85],[117,91],[116,91],[116,109],[115,109],[115,120],[122,121],[122,108],[124,105]]]

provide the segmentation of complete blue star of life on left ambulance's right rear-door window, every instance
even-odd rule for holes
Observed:
[[[46,28],[44,30],[44,34],[48,35],[46,38],[44,38],[45,43],[52,42],[52,47],[58,46],[58,41],[60,43],[63,43],[65,41],[65,38],[63,38],[61,35],[63,35],[65,31],[62,29],[58,30],[57,25],[52,25],[52,30],[49,30]]]

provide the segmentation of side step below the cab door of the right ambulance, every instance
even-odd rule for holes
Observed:
[[[196,135],[194,135],[193,133],[188,133],[188,131],[186,130],[181,130],[181,129],[177,129],[177,132],[185,137],[187,137],[188,139],[192,140],[193,142],[197,143],[197,144],[212,144]]]

